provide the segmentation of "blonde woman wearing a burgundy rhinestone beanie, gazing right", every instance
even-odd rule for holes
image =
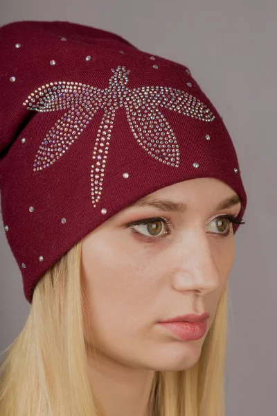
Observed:
[[[1,415],[224,415],[247,196],[222,118],[187,67],[113,33],[0,36],[2,214],[31,304]]]

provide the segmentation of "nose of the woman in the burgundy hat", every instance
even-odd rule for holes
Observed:
[[[172,255],[172,287],[176,291],[197,291],[199,295],[217,291],[222,277],[215,254],[205,230],[186,233]]]

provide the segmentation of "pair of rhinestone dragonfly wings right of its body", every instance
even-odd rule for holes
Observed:
[[[188,92],[170,87],[133,89],[126,104],[127,120],[139,145],[154,159],[179,166],[180,153],[175,132],[159,107],[202,121],[213,121],[213,113]]]

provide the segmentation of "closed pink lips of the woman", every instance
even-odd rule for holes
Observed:
[[[171,331],[181,340],[198,340],[206,333],[206,319],[209,316],[209,313],[203,313],[202,315],[181,315],[157,323]]]

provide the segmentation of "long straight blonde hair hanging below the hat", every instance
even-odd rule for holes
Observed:
[[[0,415],[105,416],[87,372],[81,250],[82,241],[35,287],[26,324],[4,351]],[[199,361],[189,370],[155,373],[152,416],[225,415],[226,309],[227,285]]]

